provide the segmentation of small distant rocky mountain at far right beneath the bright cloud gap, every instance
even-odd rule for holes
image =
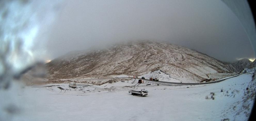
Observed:
[[[247,58],[240,59],[236,62],[230,63],[226,65],[226,68],[232,72],[240,72],[244,68],[251,65],[251,61]]]

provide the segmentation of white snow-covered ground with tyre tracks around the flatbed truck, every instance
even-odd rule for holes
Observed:
[[[76,89],[68,87],[68,84],[26,86],[18,95],[22,98],[22,108],[13,120],[247,120],[253,100],[244,99],[246,91],[250,90],[252,83],[255,84],[252,75],[246,73],[220,83],[196,86],[157,86],[146,81],[138,85],[138,80],[133,84],[133,80],[101,86],[77,84]],[[249,89],[246,90],[247,87]],[[128,90],[142,88],[149,91],[148,96],[128,93]],[[249,108],[243,108],[245,104]]]

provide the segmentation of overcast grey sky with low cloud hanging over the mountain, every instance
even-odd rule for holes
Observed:
[[[65,1],[48,33],[52,59],[134,40],[169,41],[222,61],[255,58],[235,14],[220,0]]]

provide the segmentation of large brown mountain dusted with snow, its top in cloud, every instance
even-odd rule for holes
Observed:
[[[209,78],[207,74],[232,72],[206,54],[167,42],[151,41],[118,44],[87,53],[72,52],[46,65],[48,79],[145,75],[159,69],[182,82],[200,82]]]

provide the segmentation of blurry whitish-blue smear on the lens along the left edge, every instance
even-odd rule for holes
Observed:
[[[43,80],[47,37],[41,33],[53,22],[58,2],[0,1],[0,120],[21,112],[23,85]]]

